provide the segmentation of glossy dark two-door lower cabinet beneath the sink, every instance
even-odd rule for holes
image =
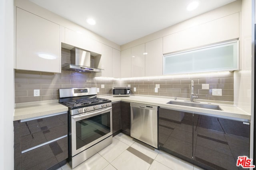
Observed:
[[[204,169],[244,170],[236,162],[249,141],[248,123],[159,108],[160,150]]]

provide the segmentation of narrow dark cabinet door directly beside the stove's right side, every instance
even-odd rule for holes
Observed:
[[[121,102],[112,103],[113,137],[121,131]]]

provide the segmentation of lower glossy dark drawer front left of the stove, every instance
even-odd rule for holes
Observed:
[[[21,169],[45,170],[68,158],[68,137],[21,154]]]

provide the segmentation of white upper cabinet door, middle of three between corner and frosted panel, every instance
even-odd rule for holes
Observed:
[[[145,76],[145,44],[132,47],[131,54],[132,77]]]

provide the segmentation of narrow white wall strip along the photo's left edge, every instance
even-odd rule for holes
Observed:
[[[0,169],[14,169],[14,2],[0,0]]]

